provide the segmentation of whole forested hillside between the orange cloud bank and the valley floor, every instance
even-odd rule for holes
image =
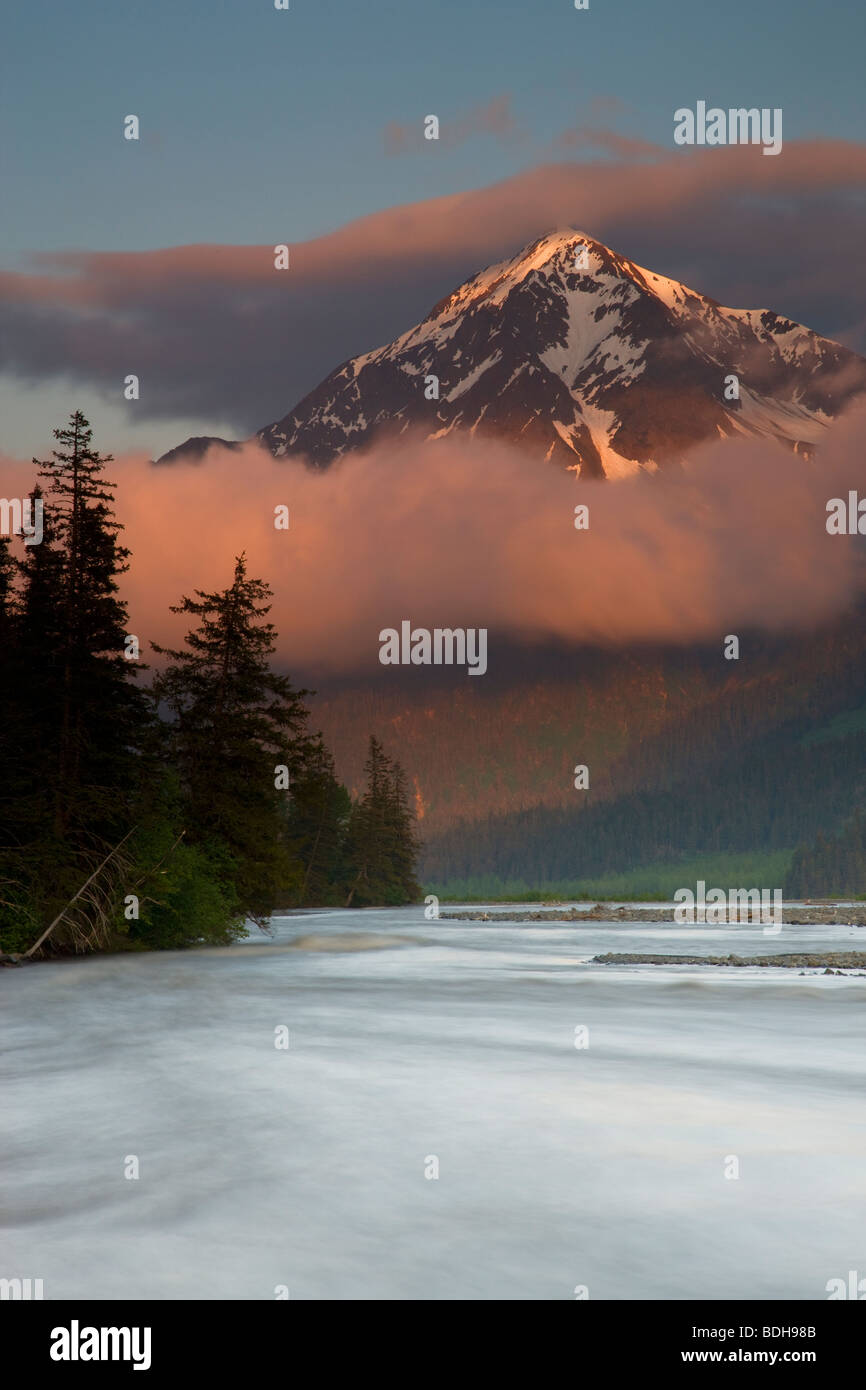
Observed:
[[[417,692],[379,680],[316,702],[349,785],[356,721],[399,739],[430,887],[544,891],[701,855],[792,852],[865,799],[859,616],[796,638],[744,635],[737,662],[720,645],[567,660],[546,680]],[[577,764],[588,790],[574,787]]]

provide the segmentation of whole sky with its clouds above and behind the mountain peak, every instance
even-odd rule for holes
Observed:
[[[865,40],[860,0],[18,6],[0,446],[43,450],[79,404],[115,450],[243,436],[562,222],[865,350]],[[783,154],[676,149],[698,100],[781,107]]]

